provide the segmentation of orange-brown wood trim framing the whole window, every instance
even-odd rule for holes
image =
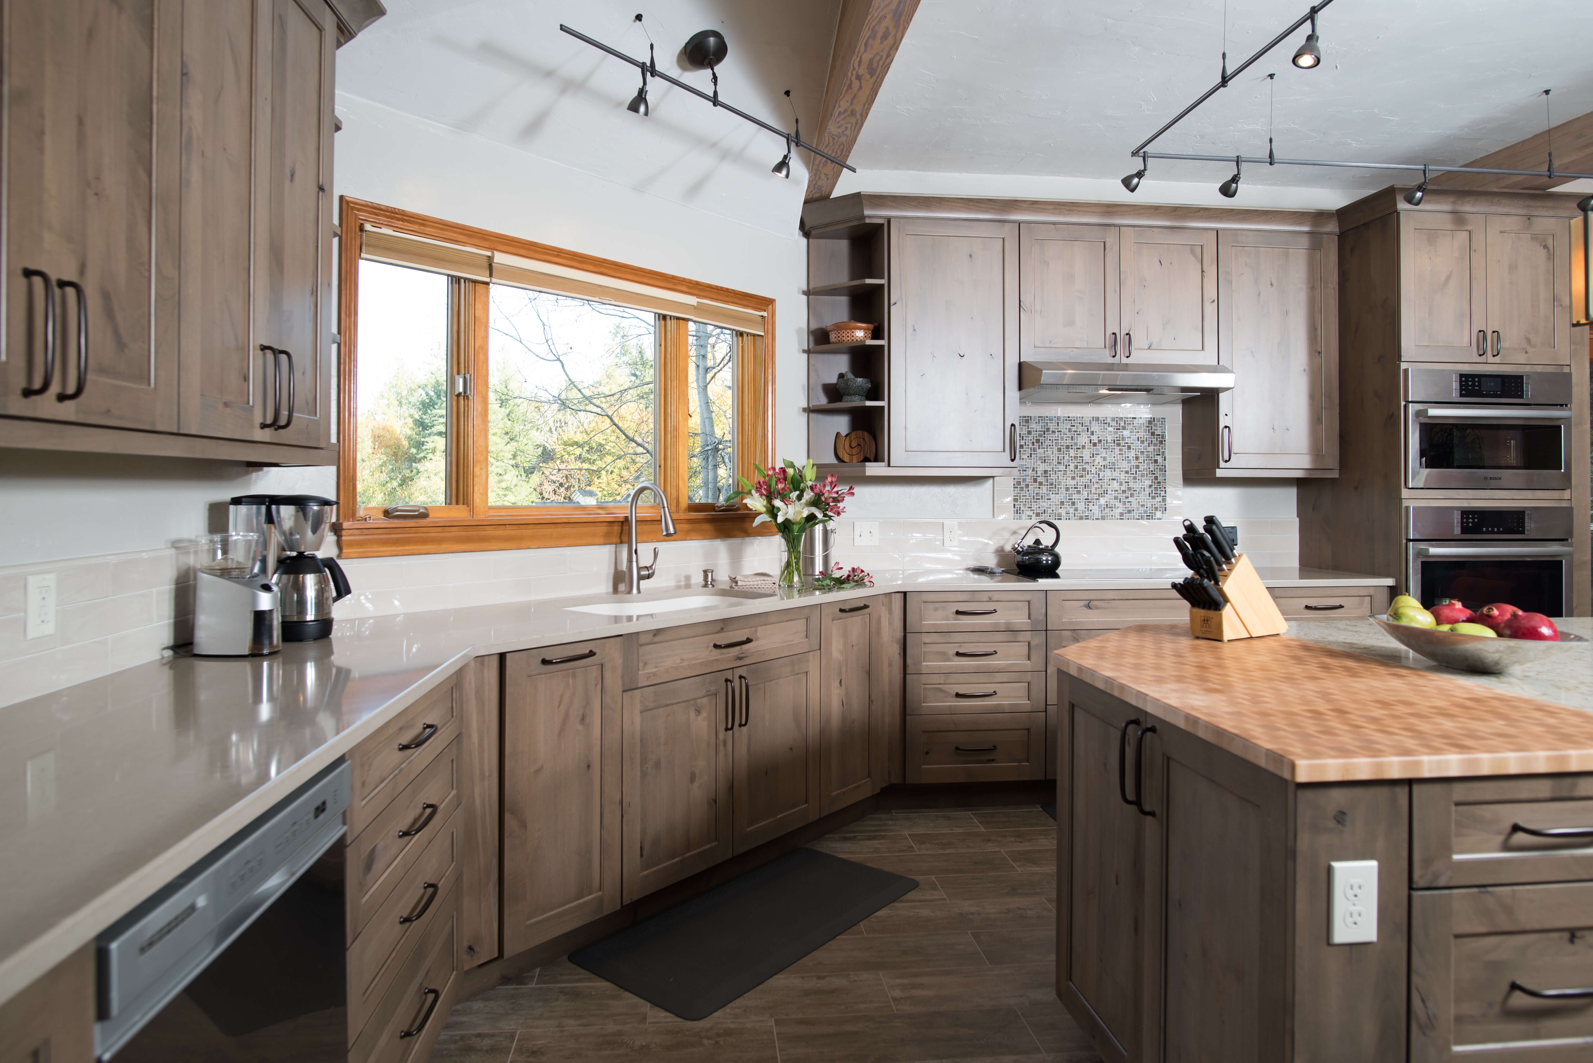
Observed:
[[[487,388],[473,387],[470,398],[449,395],[452,438],[459,458],[449,466],[454,496],[468,500],[464,506],[433,508],[448,516],[425,520],[387,520],[365,514],[358,508],[358,274],[360,232],[363,226],[390,229],[443,243],[475,247],[521,258],[553,263],[569,269],[602,274],[652,288],[679,291],[696,299],[738,307],[765,318],[763,336],[738,333],[736,352],[736,473],[749,481],[753,463],[774,463],[774,299],[733,288],[722,288],[685,277],[675,277],[640,266],[628,266],[593,255],[523,240],[518,237],[443,221],[427,215],[386,207],[362,199],[339,199],[342,239],[338,242],[338,501],[339,512],[357,519],[333,525],[342,557],[393,557],[405,554],[462,554],[472,551],[515,551],[558,546],[604,546],[626,541],[624,506],[569,506],[559,509],[494,508],[487,498]],[[487,285],[451,282],[451,298],[468,299],[452,315],[454,341],[449,353],[449,376],[464,372],[457,364],[467,344],[484,352],[487,344]],[[687,379],[685,333],[682,318],[663,318],[660,336],[660,385],[666,377]],[[451,391],[451,388],[449,388]],[[687,503],[687,393],[683,387],[660,387],[658,484],[664,489],[675,517],[677,539],[718,539],[773,535],[769,525],[753,527],[757,514],[714,511],[703,503]],[[679,407],[679,409],[677,409]],[[679,444],[679,446],[675,446]],[[658,541],[658,506],[644,506],[652,519],[642,522],[637,538]]]

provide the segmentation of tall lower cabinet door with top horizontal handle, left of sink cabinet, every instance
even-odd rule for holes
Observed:
[[[620,640],[503,656],[503,953],[620,907]]]

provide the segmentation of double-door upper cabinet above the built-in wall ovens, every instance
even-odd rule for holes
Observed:
[[[1564,218],[1400,212],[1402,360],[1569,364],[1569,240]]]

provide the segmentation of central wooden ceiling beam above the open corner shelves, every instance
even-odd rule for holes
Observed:
[[[812,137],[820,150],[836,159],[851,156],[914,11],[918,0],[841,0],[819,135]],[[804,202],[828,199],[840,178],[841,167],[812,156]]]

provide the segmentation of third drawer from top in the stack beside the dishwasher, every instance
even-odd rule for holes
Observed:
[[[432,920],[438,918],[438,901],[459,882],[459,826],[462,816],[449,816],[438,827],[409,874],[387,894],[370,923],[349,948],[349,1025],[365,1026],[376,1001],[382,998],[409,948]]]

